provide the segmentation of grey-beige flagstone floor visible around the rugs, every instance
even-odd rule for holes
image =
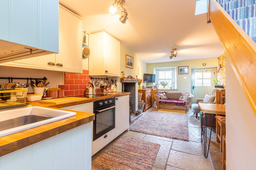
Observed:
[[[157,109],[151,108],[148,111],[157,111]],[[146,114],[147,112],[143,114]],[[222,169],[222,153],[220,152],[220,143],[216,141],[215,131],[212,130],[209,156],[207,159],[205,159],[203,153],[204,144],[200,142],[201,135],[200,123],[198,120],[199,116],[198,119],[196,119],[194,113],[191,111],[186,112],[186,115],[188,116],[189,141],[169,139],[133,131],[125,131],[119,137],[110,142],[107,146],[102,148],[99,152],[94,154],[92,156],[92,161],[96,159],[106,149],[108,149],[121,136],[128,136],[139,140],[159,143],[161,145],[156,156],[156,160],[153,164],[152,170]],[[130,126],[132,126],[132,124]],[[209,131],[210,130],[207,130],[207,134]],[[209,137],[209,135],[210,134],[208,134],[207,136]]]

